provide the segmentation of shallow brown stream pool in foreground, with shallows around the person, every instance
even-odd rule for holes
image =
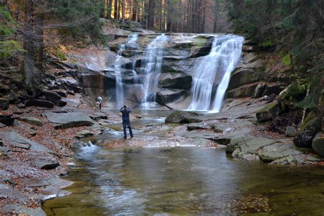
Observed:
[[[163,118],[170,111],[134,111],[137,141],[167,140]],[[165,133],[152,133],[157,126]],[[100,142],[122,132],[99,135],[98,144],[77,150],[67,180],[71,194],[47,200],[47,215],[323,215],[324,170],[232,159],[224,148],[167,144],[107,148]],[[127,140],[128,141],[128,140]],[[127,142],[126,141],[126,142]],[[167,141],[165,141],[167,143]]]

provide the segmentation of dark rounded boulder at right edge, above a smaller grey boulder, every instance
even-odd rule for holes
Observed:
[[[299,131],[294,139],[294,143],[297,147],[310,147],[312,145],[312,139],[316,133],[321,131],[322,117],[313,116],[312,113],[301,124]]]

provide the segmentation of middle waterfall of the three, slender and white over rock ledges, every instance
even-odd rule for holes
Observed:
[[[162,34],[150,42],[146,49],[145,58],[141,62],[146,74],[144,79],[144,98],[142,100],[144,103],[143,106],[146,109],[150,108],[149,102],[156,101],[157,87],[159,85],[159,77],[163,63],[164,46],[168,40],[169,38]]]

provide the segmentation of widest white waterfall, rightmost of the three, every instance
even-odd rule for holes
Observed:
[[[243,41],[240,36],[219,36],[214,39],[211,52],[197,59],[188,109],[215,112],[221,109],[231,72],[241,58]]]

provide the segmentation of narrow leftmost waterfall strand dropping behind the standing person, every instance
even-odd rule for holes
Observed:
[[[135,46],[137,47],[137,38],[138,38],[138,33],[131,33],[126,41],[126,44],[135,44]],[[125,96],[124,96],[124,85],[122,83],[122,52],[125,51],[126,49],[126,44],[120,44],[120,47],[118,49],[117,52],[117,56],[116,56],[116,62],[115,62],[115,76],[116,76],[116,106],[122,107],[122,105],[124,105],[124,100],[125,100]],[[135,70],[133,70],[133,74],[134,74]],[[137,77],[137,74],[135,72],[135,75]],[[134,75],[134,76],[135,76]]]

